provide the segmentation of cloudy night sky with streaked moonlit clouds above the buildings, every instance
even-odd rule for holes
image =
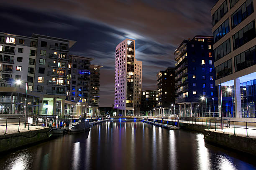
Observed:
[[[218,0],[7,0],[0,1],[0,32],[76,40],[71,54],[102,65],[100,106],[114,103],[115,47],[136,40],[143,62],[142,90],[156,89],[156,74],[174,67],[182,40],[212,35],[210,10]]]

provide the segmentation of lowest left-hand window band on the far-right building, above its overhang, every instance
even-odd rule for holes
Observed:
[[[232,74],[231,59],[215,67],[216,79]]]

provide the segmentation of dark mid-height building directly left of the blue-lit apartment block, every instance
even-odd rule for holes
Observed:
[[[171,106],[175,102],[175,68],[168,67],[157,74],[158,93],[156,95],[156,108],[160,115],[171,114]]]

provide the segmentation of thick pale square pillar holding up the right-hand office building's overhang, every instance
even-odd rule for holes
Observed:
[[[234,80],[236,117],[242,117],[240,80]]]

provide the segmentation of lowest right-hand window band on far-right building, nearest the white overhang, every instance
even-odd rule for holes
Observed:
[[[235,72],[256,64],[255,46],[234,57]]]

